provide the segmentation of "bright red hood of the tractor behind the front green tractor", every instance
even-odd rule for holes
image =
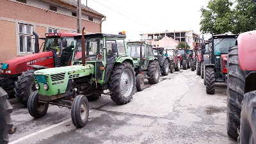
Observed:
[[[53,63],[53,53],[51,51],[29,54],[28,56],[19,56],[1,63],[1,69],[3,70],[1,74],[21,74],[22,72],[31,69],[28,65],[53,67]]]

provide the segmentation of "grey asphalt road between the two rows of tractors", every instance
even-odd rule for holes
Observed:
[[[203,79],[191,70],[161,77],[134,94],[128,104],[116,105],[109,95],[90,102],[88,124],[77,129],[70,109],[49,106],[35,119],[12,101],[17,132],[10,143],[237,143],[226,131],[226,84],[216,83],[207,95]]]

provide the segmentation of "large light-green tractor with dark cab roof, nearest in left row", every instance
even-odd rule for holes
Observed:
[[[116,104],[127,104],[135,92],[135,73],[125,37],[120,33],[75,36],[72,66],[34,72],[37,90],[29,97],[29,114],[41,118],[49,104],[66,107],[72,111],[73,124],[84,127],[89,98],[98,99],[108,89]]]

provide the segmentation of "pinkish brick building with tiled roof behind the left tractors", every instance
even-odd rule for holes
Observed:
[[[39,37],[45,33],[76,33],[75,0],[1,0],[0,63],[32,54],[33,31]],[[82,4],[82,27],[86,33],[101,32],[105,16]],[[40,40],[40,46],[43,41]]]

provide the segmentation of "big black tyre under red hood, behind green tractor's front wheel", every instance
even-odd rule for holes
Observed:
[[[35,69],[27,70],[22,72],[22,75],[18,77],[15,82],[15,97],[21,104],[28,106],[28,99],[31,93],[36,91],[34,74]]]

